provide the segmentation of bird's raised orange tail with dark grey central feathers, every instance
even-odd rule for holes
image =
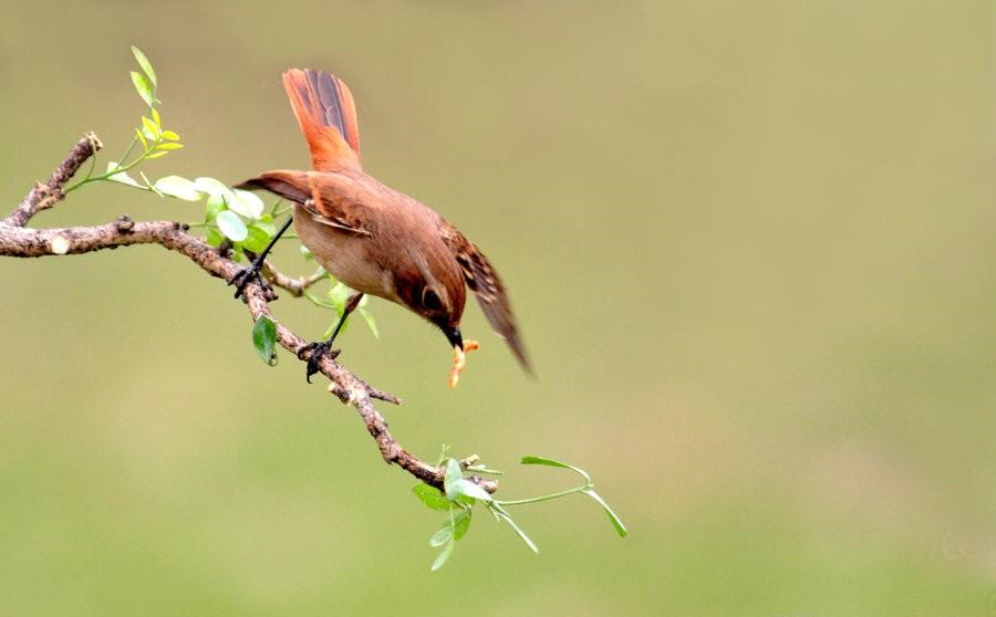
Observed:
[[[360,169],[356,105],[345,82],[324,71],[291,69],[283,88],[319,171]]]

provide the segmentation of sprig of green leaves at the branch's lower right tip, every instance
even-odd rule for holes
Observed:
[[[445,452],[446,449],[444,447],[444,457]],[[446,464],[446,474],[443,481],[444,491],[439,491],[435,487],[424,483],[416,484],[412,488],[415,496],[417,496],[427,508],[447,513],[447,517],[443,520],[443,525],[432,535],[432,537],[429,537],[429,546],[433,546],[434,548],[443,547],[443,551],[439,552],[436,560],[433,562],[433,571],[443,567],[449,557],[453,556],[457,541],[464,537],[467,530],[470,527],[470,517],[474,512],[474,506],[479,503],[483,503],[491,514],[495,515],[496,520],[508,523],[512,531],[516,532],[516,535],[518,535],[533,553],[539,553],[539,547],[532,538],[522,531],[522,527],[516,523],[506,509],[507,506],[539,503],[541,501],[550,501],[580,493],[588,495],[602,508],[620,537],[623,537],[629,533],[629,530],[626,530],[626,526],[623,524],[622,520],[620,520],[619,515],[616,515],[605,500],[595,492],[591,475],[579,467],[548,459],[546,457],[522,457],[522,460],[520,461],[522,464],[541,464],[570,469],[580,474],[584,479],[584,482],[564,491],[558,491],[546,495],[517,500],[497,500],[485,491],[480,484],[465,478],[460,463],[455,459],[446,458],[440,462]],[[468,466],[467,471],[476,473],[501,473],[500,471],[488,469],[483,463]]]

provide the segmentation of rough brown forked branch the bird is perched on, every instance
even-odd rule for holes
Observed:
[[[242,270],[226,254],[221,254],[200,238],[188,233],[187,226],[174,221],[137,222],[123,216],[114,222],[94,227],[25,228],[24,226],[34,215],[51,208],[64,197],[62,187],[80,166],[100,148],[101,142],[96,136],[92,133],[87,134],[73,147],[49,182],[35,186],[13,212],[0,221],[0,255],[39,258],[79,254],[134,244],[158,244],[164,249],[185,255],[208,274],[224,281],[230,280]],[[282,276],[286,280],[283,282],[288,283],[281,286],[288,289],[292,294],[294,289],[300,287],[303,292],[303,289],[311,284],[308,282],[310,278],[293,280],[283,274],[279,274],[279,276]],[[246,286],[245,302],[253,322],[263,315],[273,321],[277,325],[277,341],[281,347],[295,357],[299,352],[302,352],[305,341],[273,318],[268,294],[257,282],[253,281]],[[310,357],[311,352],[308,351],[302,353],[300,359],[308,362]],[[376,441],[386,463],[397,464],[418,480],[439,489],[443,488],[445,468],[428,464],[405,450],[391,435],[387,421],[374,407],[372,400],[376,398],[397,405],[401,404],[401,399],[371,387],[363,379],[343,368],[335,359],[330,358],[329,354],[320,358],[319,369],[331,381],[329,391],[339,397],[342,402],[355,407],[360,412],[366,430]],[[494,480],[483,480],[476,477],[471,480],[488,492],[494,493],[498,490],[498,483]]]

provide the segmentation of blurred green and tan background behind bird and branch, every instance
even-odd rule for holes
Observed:
[[[159,248],[0,260],[0,615],[996,614],[996,8],[975,2],[8,2],[4,210],[84,130],[123,149],[155,63],[187,148],[152,177],[303,167],[279,73],[345,79],[365,168],[480,244],[538,381],[476,305],[456,391],[383,301],[342,359],[398,439],[566,487],[437,513],[355,412],[266,367]],[[87,188],[33,224],[194,220]],[[277,261],[310,272],[287,242]],[[283,294],[315,338],[329,315]]]

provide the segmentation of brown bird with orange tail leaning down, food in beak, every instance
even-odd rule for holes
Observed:
[[[484,253],[435,210],[363,171],[356,107],[346,84],[324,71],[291,69],[283,73],[283,87],[314,170],[264,171],[238,185],[277,194],[292,201],[294,211],[267,250],[231,281],[236,297],[251,279],[259,280],[262,260],[292,220],[315,261],[356,291],[332,337],[309,346],[314,352],[309,378],[363,294],[396,302],[438,326],[454,347],[454,364],[463,367],[466,287],[531,374],[505,285]]]

